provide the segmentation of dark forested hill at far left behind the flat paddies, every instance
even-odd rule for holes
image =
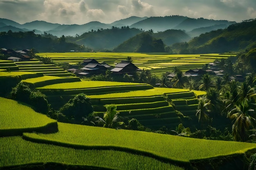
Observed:
[[[38,52],[66,52],[70,50],[85,51],[81,46],[65,41],[65,37],[46,38],[35,34],[33,31],[28,32],[0,32],[0,48],[6,49],[32,49]]]

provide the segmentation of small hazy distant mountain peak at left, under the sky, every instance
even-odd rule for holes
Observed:
[[[49,30],[52,30],[52,29],[58,27],[59,25],[61,25],[61,24],[52,24],[49,22],[36,20],[36,21],[27,22],[25,24],[22,24],[18,28],[25,28],[25,29],[29,29],[29,30],[37,29],[40,31],[49,31]]]

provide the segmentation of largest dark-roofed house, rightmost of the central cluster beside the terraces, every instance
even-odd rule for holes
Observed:
[[[131,62],[121,62],[115,66],[115,68],[111,69],[112,73],[119,75],[134,75],[136,71],[141,71],[137,66],[132,64]]]

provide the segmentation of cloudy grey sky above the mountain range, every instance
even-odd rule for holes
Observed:
[[[20,24],[108,24],[130,16],[169,15],[241,22],[256,18],[256,0],[0,0],[0,18]]]

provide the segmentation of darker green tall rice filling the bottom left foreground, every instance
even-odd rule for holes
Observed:
[[[0,169],[4,166],[55,162],[117,170],[184,170],[150,157],[114,150],[72,149],[37,144],[21,137],[0,138],[0,144]]]

